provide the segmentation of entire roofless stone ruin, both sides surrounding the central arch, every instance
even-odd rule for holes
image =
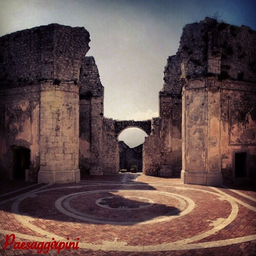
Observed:
[[[118,135],[144,130],[143,172],[188,184],[256,180],[256,32],[206,18],[184,27],[159,92],[159,117],[104,117],[104,87],[84,28],[0,38],[0,177],[77,182],[118,174]]]

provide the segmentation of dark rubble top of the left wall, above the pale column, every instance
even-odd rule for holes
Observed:
[[[0,38],[1,84],[79,80],[80,64],[90,49],[83,27],[50,24]]]

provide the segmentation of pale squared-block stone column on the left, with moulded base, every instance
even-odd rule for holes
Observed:
[[[39,183],[80,180],[78,90],[74,82],[41,84]]]

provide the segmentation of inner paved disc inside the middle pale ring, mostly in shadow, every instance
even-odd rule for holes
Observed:
[[[136,194],[142,196],[135,196]],[[108,199],[108,203],[112,204],[112,207],[104,207],[104,215],[99,209],[102,208],[99,204],[103,202],[103,198]],[[78,204],[81,200],[84,204]],[[147,202],[142,202],[143,200]],[[122,207],[120,209],[126,209],[126,214],[120,214],[120,209],[117,208],[119,202]],[[116,190],[95,190],[62,196],[56,200],[55,207],[63,214],[83,221],[131,225],[179,218],[193,210],[194,202],[186,196],[155,190],[118,190],[118,192]],[[150,220],[147,220],[148,216]]]

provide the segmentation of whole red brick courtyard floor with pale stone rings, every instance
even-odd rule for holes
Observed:
[[[0,185],[0,255],[256,254],[256,190],[250,186],[213,188],[142,174]],[[54,238],[78,242],[79,249],[38,254],[14,243],[4,249],[10,234],[20,244]]]

